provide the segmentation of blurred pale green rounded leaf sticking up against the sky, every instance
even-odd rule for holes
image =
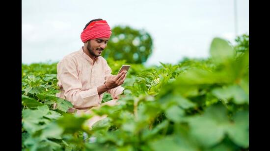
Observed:
[[[226,63],[234,56],[233,48],[227,41],[220,38],[214,38],[212,41],[210,54],[217,64]]]

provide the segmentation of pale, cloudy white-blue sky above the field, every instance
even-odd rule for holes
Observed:
[[[235,43],[249,33],[248,8],[248,0],[22,0],[22,63],[58,62],[79,50],[82,29],[98,18],[148,32],[145,65],[207,58],[215,37]]]

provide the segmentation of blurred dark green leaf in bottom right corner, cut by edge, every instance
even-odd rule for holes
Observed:
[[[240,111],[234,116],[234,123],[227,128],[229,137],[239,146],[249,146],[248,111]]]

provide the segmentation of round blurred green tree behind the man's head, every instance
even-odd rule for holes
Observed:
[[[115,26],[102,56],[106,59],[111,57],[114,60],[126,60],[131,64],[141,64],[146,62],[152,53],[152,45],[152,38],[145,30]]]

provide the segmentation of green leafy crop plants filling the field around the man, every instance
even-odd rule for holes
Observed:
[[[132,64],[125,97],[118,106],[95,110],[108,118],[91,130],[84,122],[94,114],[66,113],[72,104],[55,97],[56,64],[22,65],[22,150],[248,150],[248,48],[236,55],[238,48],[215,38],[209,59]],[[113,74],[124,63],[108,60]],[[96,141],[84,142],[82,132]]]

